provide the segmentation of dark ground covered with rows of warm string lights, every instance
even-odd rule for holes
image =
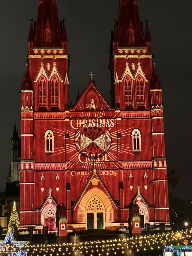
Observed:
[[[140,236],[136,238],[109,239],[101,241],[77,242],[67,244],[39,244],[26,245],[28,256],[102,256],[102,255],[156,255],[162,253],[167,246],[179,248],[191,248],[192,229],[180,230],[177,232],[157,233],[153,235]],[[190,247],[188,247],[190,246]],[[150,252],[149,252],[150,251]]]

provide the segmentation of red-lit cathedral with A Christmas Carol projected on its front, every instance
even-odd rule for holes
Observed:
[[[20,225],[55,229],[58,204],[75,230],[169,225],[162,88],[137,0],[120,0],[110,48],[111,105],[92,77],[68,102],[65,24],[39,0],[21,88]],[[107,71],[106,71],[107,72]]]

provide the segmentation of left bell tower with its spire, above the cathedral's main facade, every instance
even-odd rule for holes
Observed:
[[[68,41],[56,0],[39,0],[37,22],[31,20],[28,58],[34,111],[68,109],[68,84],[63,85],[68,77]]]

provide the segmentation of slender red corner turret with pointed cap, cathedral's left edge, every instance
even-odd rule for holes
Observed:
[[[24,218],[22,211],[34,209],[34,131],[33,131],[33,85],[29,74],[29,66],[21,86],[21,162],[20,162],[20,201],[24,200],[26,191],[30,195],[25,205],[20,207],[20,224]]]

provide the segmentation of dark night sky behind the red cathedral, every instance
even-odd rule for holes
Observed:
[[[20,134],[20,94],[28,54],[30,18],[37,19],[38,0],[0,1],[0,191],[10,166],[13,125]],[[66,20],[70,55],[69,100],[75,103],[94,73],[95,83],[110,101],[109,47],[119,0],[57,0]],[[152,53],[161,81],[168,172],[183,177],[176,196],[192,197],[191,86],[192,1],[138,0],[140,19],[149,20]]]

